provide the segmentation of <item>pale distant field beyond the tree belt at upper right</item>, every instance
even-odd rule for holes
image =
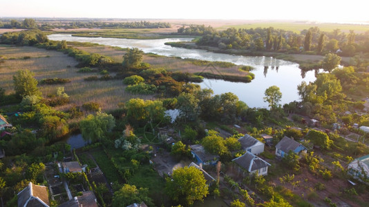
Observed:
[[[302,22],[250,22],[245,24],[238,24],[232,26],[220,26],[217,29],[226,29],[229,27],[250,29],[250,28],[269,28],[292,30],[294,32],[301,32],[312,27],[318,27],[324,32],[332,32],[335,29],[340,29],[342,32],[349,32],[354,30],[355,32],[366,32],[369,30],[369,25],[350,25],[350,24],[337,24],[337,23],[302,23]]]

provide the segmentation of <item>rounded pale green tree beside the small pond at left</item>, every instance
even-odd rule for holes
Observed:
[[[102,112],[97,112],[96,115],[88,115],[85,119],[79,121],[82,137],[84,140],[93,142],[104,138],[106,132],[113,129],[114,126],[114,117]]]

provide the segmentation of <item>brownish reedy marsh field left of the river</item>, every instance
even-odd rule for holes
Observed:
[[[100,103],[102,110],[117,108],[117,103],[128,101],[131,98],[140,97],[151,99],[148,95],[132,95],[124,91],[121,80],[111,81],[84,81],[85,77],[98,75],[97,73],[79,73],[77,61],[62,52],[44,50],[33,47],[15,47],[0,45],[0,56],[5,58],[0,63],[0,87],[6,90],[6,94],[14,92],[12,76],[17,70],[28,69],[35,72],[37,80],[47,78],[70,79],[70,83],[64,85],[39,86],[44,97],[55,94],[57,87],[64,86],[70,96],[70,103],[59,109],[70,108],[73,104],[81,106],[88,101]],[[23,59],[30,57],[29,59]],[[113,74],[112,74],[113,75]]]

